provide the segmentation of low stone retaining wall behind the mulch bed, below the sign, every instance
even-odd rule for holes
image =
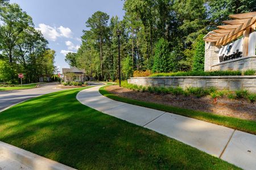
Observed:
[[[256,92],[256,76],[162,76],[131,78],[128,83],[157,87],[216,87],[218,90]]]

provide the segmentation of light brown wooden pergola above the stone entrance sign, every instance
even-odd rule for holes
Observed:
[[[226,45],[229,42],[243,36],[243,56],[248,54],[249,34],[255,31],[256,12],[229,15],[233,20],[225,20],[223,23],[209,32],[204,41],[215,42],[215,45]]]

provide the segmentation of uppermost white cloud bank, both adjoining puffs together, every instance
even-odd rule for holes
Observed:
[[[36,29],[40,30],[43,33],[44,37],[46,37],[46,39],[50,41],[56,41],[57,37],[72,38],[73,34],[70,28],[65,28],[63,26],[56,28],[46,24],[39,24],[39,28]]]

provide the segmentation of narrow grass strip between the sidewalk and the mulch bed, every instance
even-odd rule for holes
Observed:
[[[142,107],[157,109],[157,110],[164,111],[164,112],[180,114],[182,116],[192,117],[192,118],[196,118],[198,120],[211,122],[213,124],[226,126],[228,128],[233,128],[233,129],[237,129],[237,130],[241,130],[241,131],[246,131],[251,134],[256,134],[256,122],[255,121],[242,120],[240,118],[220,116],[220,115],[213,114],[213,113],[206,113],[206,112],[194,111],[191,109],[172,107],[170,105],[163,105],[163,104],[150,103],[150,102],[141,101],[141,100],[129,99],[127,97],[120,97],[120,96],[111,94],[110,92],[105,90],[105,88],[106,87],[101,87],[100,93],[106,97],[109,97],[110,99],[113,99],[113,100],[122,101],[124,103],[130,103],[130,104],[134,104],[134,105],[140,105]]]

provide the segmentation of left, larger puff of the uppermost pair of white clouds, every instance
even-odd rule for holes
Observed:
[[[47,40],[56,41],[57,37],[60,36],[59,32],[57,32],[55,28],[46,24],[39,24],[39,28],[36,29],[40,30]]]

